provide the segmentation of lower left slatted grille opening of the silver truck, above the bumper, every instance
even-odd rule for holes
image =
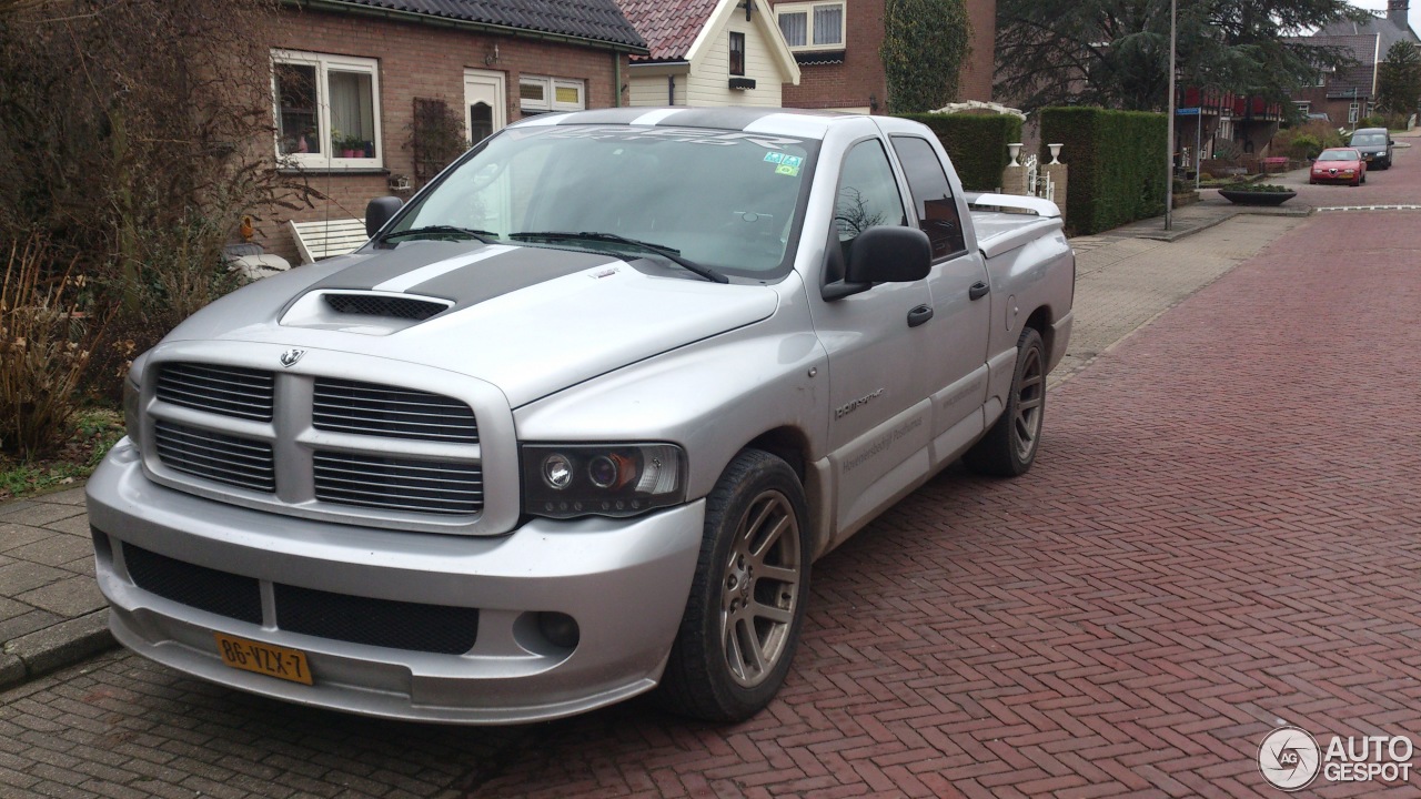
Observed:
[[[249,490],[276,490],[276,463],[264,441],[159,419],[153,445],[158,459],[176,472]]]

